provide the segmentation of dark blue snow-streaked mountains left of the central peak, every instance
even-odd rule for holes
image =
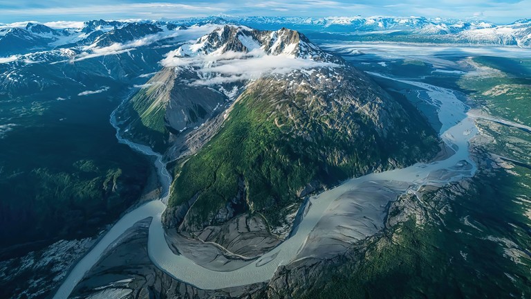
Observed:
[[[0,86],[8,94],[59,86],[64,80],[82,87],[81,78],[88,73],[133,80],[158,71],[165,54],[213,28],[216,25],[102,20],[67,28],[35,22],[0,24]]]

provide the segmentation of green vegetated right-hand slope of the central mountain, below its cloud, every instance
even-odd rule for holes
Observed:
[[[169,206],[196,199],[181,228],[201,230],[243,211],[279,226],[308,192],[436,153],[436,135],[416,111],[351,67],[341,75],[348,80],[335,83],[337,101],[325,92],[335,84],[288,91],[288,80],[268,78],[248,87],[221,130],[177,167]]]

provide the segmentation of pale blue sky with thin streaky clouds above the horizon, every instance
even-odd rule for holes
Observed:
[[[485,19],[509,23],[531,18],[531,0],[0,0],[0,23],[87,19],[176,19],[209,15],[349,17],[362,15]]]

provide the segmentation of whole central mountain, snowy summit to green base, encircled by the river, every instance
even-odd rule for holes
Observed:
[[[128,132],[178,159],[166,225],[230,251],[253,238],[222,233],[241,217],[285,238],[307,194],[438,150],[416,109],[295,30],[220,26],[162,65]]]

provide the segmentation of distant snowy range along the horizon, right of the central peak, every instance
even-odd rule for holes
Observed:
[[[481,20],[425,17],[223,17],[252,28],[275,30],[289,26],[316,37],[326,37],[316,33],[339,33],[343,39],[361,41],[531,46],[529,19],[496,25]]]

